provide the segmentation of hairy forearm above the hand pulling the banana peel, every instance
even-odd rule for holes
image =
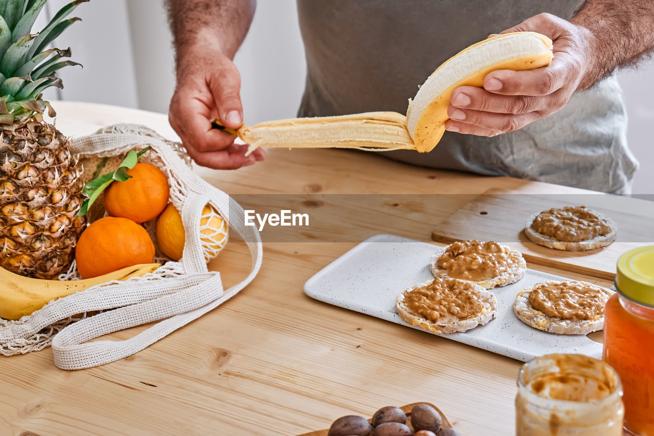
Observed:
[[[256,0],[166,0],[173,44],[179,54],[205,45],[230,59],[236,54],[254,16]]]

